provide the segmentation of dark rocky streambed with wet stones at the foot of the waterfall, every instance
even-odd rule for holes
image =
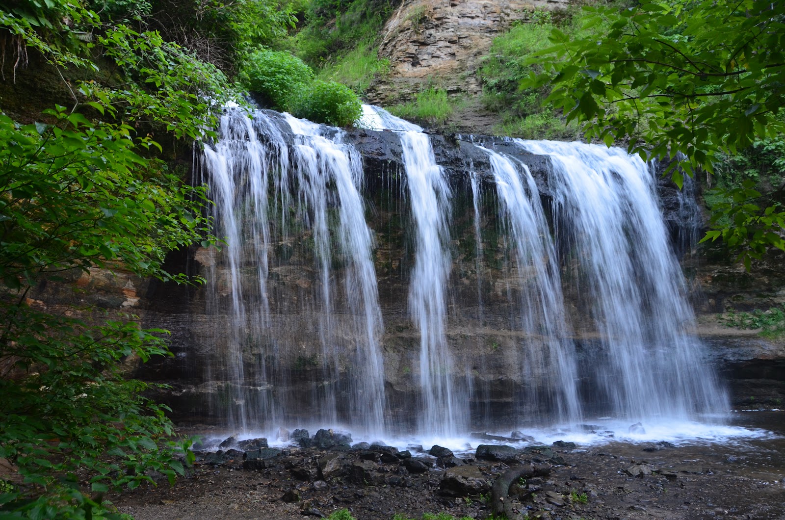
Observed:
[[[785,412],[737,417],[778,429]],[[351,444],[338,432],[295,430],[291,444],[219,440],[198,452],[188,478],[176,485],[112,500],[137,520],[319,518],[341,508],[358,520],[441,511],[456,518],[506,511],[553,520],[785,518],[785,441],[776,434],[689,445],[519,441],[454,453],[440,446]],[[504,482],[516,471],[522,478]]]

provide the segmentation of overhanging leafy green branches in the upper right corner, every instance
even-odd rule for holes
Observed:
[[[583,123],[587,138],[629,140],[628,150],[646,159],[681,152],[685,159],[670,163],[681,185],[677,166],[690,175],[711,173],[721,154],[785,130],[778,117],[785,101],[783,2],[678,0],[583,10],[586,31],[601,24],[609,30],[572,38],[554,29],[553,46],[529,61],[546,71],[531,73],[522,86],[552,86],[548,101]],[[751,187],[728,199],[703,240],[722,237],[747,269],[769,247],[785,251],[780,203]]]

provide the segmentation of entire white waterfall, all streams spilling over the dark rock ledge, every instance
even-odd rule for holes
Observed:
[[[395,130],[400,141],[400,195],[408,207],[398,213],[411,219],[404,221],[411,229],[402,229],[411,266],[400,260],[400,278],[388,271],[377,280],[380,230],[371,230],[378,222],[365,185],[392,177],[363,173],[349,134],[275,112],[255,111],[250,119],[229,108],[220,138],[205,146],[203,178],[215,201],[216,234],[226,244],[220,253],[195,255],[210,284],[207,313],[221,323],[202,368],[228,427],[343,426],[378,439],[409,433],[400,425],[416,423],[420,439],[446,440],[466,436],[470,424],[575,425],[585,416],[654,423],[727,409],[690,335],[684,277],[655,178],[640,159],[580,143],[466,145],[480,154],[473,157],[485,161],[486,173],[466,171],[473,215],[458,215],[466,226],[460,235],[455,177],[437,164],[429,135],[380,108],[366,105],[363,113],[363,126]],[[535,181],[512,148],[546,156],[546,178]],[[485,192],[497,202],[484,204]],[[498,222],[498,240],[496,230],[484,238],[489,221]],[[452,269],[467,235],[472,245],[462,251],[476,276],[470,281]],[[460,280],[476,287],[469,305],[479,311],[468,320],[454,310]],[[417,334],[411,343],[400,324],[403,339],[385,333],[382,283],[408,295]],[[504,309],[509,319],[500,317]],[[482,330],[467,330],[467,323]],[[494,334],[514,351],[502,353]],[[417,353],[412,390],[391,374],[393,363],[411,370],[401,361],[410,347]],[[461,348],[469,353],[457,353]],[[514,377],[480,373],[497,368]],[[480,401],[485,408],[477,413]],[[506,412],[491,417],[499,410]]]

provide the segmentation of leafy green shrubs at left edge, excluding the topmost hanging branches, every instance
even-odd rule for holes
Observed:
[[[152,481],[148,471],[170,480],[183,474],[181,448],[160,445],[172,434],[166,408],[140,397],[147,385],[123,379],[119,366],[132,354],[147,361],[166,353],[165,331],[122,317],[91,323],[48,313],[27,294],[93,267],[186,281],[163,269],[164,257],[199,240],[209,223],[199,214],[202,189],[181,186],[137,153],[153,144],[149,137],[133,139],[129,125],[93,123],[63,107],[46,115],[55,123],[20,126],[0,115],[7,137],[0,150],[0,457],[24,478],[0,507],[65,518],[65,511],[102,511],[105,491]],[[79,469],[89,471],[89,490],[79,485]]]

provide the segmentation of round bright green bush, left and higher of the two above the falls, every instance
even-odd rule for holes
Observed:
[[[243,82],[278,110],[290,108],[291,97],[313,80],[313,71],[300,58],[271,49],[254,51],[243,66]]]

